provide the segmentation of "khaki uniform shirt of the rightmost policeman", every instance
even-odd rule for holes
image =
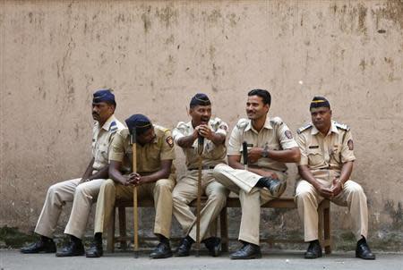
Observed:
[[[298,131],[296,139],[301,150],[299,165],[307,165],[315,173],[332,170],[340,173],[341,167],[348,161],[354,161],[354,144],[351,131],[347,125],[331,122],[330,131],[323,136],[310,123]]]

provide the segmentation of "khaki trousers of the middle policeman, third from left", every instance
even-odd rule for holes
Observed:
[[[177,182],[172,197],[174,199],[174,215],[181,224],[184,233],[196,240],[196,216],[189,204],[197,198],[198,171],[186,171]],[[213,222],[227,203],[227,190],[222,184],[215,181],[212,170],[201,171],[201,194],[207,196],[206,205],[201,209],[200,239],[207,239],[216,235],[217,227]]]

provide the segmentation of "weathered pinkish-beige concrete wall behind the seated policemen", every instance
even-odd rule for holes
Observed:
[[[258,87],[270,89],[270,114],[293,130],[310,120],[314,94],[329,97],[334,118],[355,135],[353,178],[367,193],[373,245],[401,250],[401,1],[2,1],[0,8],[0,226],[32,230],[47,187],[81,175],[92,90],[116,89],[122,120],[141,112],[167,127],[188,119],[186,105],[202,91],[233,127],[246,92]],[[290,179],[287,194],[293,189]],[[342,243],[351,238],[339,231],[347,212],[332,212]],[[262,223],[301,235],[295,217],[267,211]]]

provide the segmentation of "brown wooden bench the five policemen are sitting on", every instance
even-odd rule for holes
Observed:
[[[206,198],[201,199],[201,204],[205,203]],[[195,207],[196,203],[193,201],[191,203],[192,207]],[[120,241],[122,249],[126,249],[127,240],[130,238],[126,234],[126,215],[125,208],[133,207],[133,201],[117,201],[116,208],[118,212],[119,220],[119,236],[115,236],[115,219],[116,219],[116,208],[111,215],[109,221],[109,226],[107,228],[107,252],[114,252],[115,242]],[[152,200],[141,200],[139,201],[139,207],[154,207],[154,202]],[[219,215],[219,227],[220,227],[220,237],[221,237],[221,249],[224,252],[228,251],[228,222],[227,222],[227,208],[228,207],[241,207],[239,198],[227,198],[227,206],[221,210]],[[262,205],[262,208],[296,208],[296,203],[294,198],[276,198],[270,200],[268,203]],[[319,215],[319,240],[322,247],[324,247],[326,254],[331,253],[331,238],[330,238],[330,201],[327,199],[322,200],[322,203],[318,207]],[[153,238],[154,239],[154,238]],[[304,242],[304,240],[264,240],[266,242]]]

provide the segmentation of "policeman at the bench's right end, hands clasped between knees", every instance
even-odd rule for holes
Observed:
[[[317,208],[323,198],[329,198],[339,206],[348,207],[358,240],[356,257],[374,259],[365,240],[368,208],[364,190],[350,180],[356,160],[351,131],[347,125],[331,120],[330,104],[325,97],[313,97],[310,111],[312,123],[300,128],[296,139],[301,150],[296,203],[304,221],[304,240],[310,243],[304,257],[322,257]]]

